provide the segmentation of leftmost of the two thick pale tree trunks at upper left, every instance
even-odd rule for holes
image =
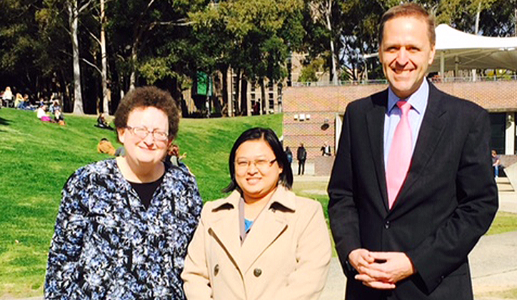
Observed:
[[[68,2],[69,24],[72,40],[72,55],[74,61],[74,114],[84,114],[83,96],[81,93],[81,66],[79,64],[79,11],[78,0]]]

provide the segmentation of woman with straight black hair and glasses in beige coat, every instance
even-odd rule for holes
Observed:
[[[230,152],[226,199],[207,202],[185,259],[187,299],[318,299],[331,243],[321,204],[290,191],[293,172],[271,129]]]

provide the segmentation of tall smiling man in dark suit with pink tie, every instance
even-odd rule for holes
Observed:
[[[328,185],[346,300],[472,299],[468,253],[497,210],[488,113],[425,79],[433,19],[383,15],[389,88],[348,105]]]

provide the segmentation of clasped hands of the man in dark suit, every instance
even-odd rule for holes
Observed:
[[[396,283],[415,273],[411,259],[403,252],[373,252],[355,249],[348,261],[358,271],[355,279],[373,289],[395,289]]]

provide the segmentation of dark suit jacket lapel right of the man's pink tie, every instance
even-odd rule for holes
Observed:
[[[441,105],[442,95],[433,84],[429,84],[429,98],[426,113],[423,116],[422,125],[418,133],[418,140],[416,141],[415,151],[413,151],[413,158],[411,159],[411,166],[408,177],[404,182],[402,190],[398,195],[398,199],[393,206],[393,214],[399,214],[400,211],[405,211],[409,207],[406,201],[408,191],[416,184],[423,171],[426,170],[429,159],[433,156],[443,135],[445,129],[446,111]],[[403,208],[406,209],[403,209]]]

